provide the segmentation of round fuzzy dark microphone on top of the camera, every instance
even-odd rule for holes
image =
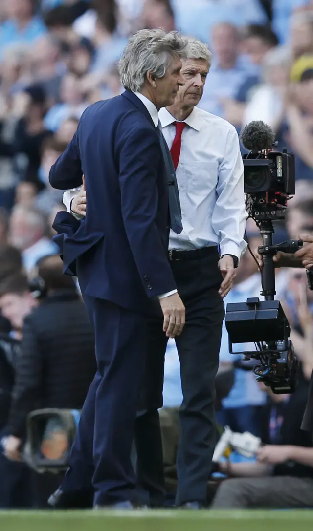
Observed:
[[[240,140],[248,151],[257,153],[270,148],[275,142],[275,133],[272,127],[261,120],[253,120],[243,127]]]

